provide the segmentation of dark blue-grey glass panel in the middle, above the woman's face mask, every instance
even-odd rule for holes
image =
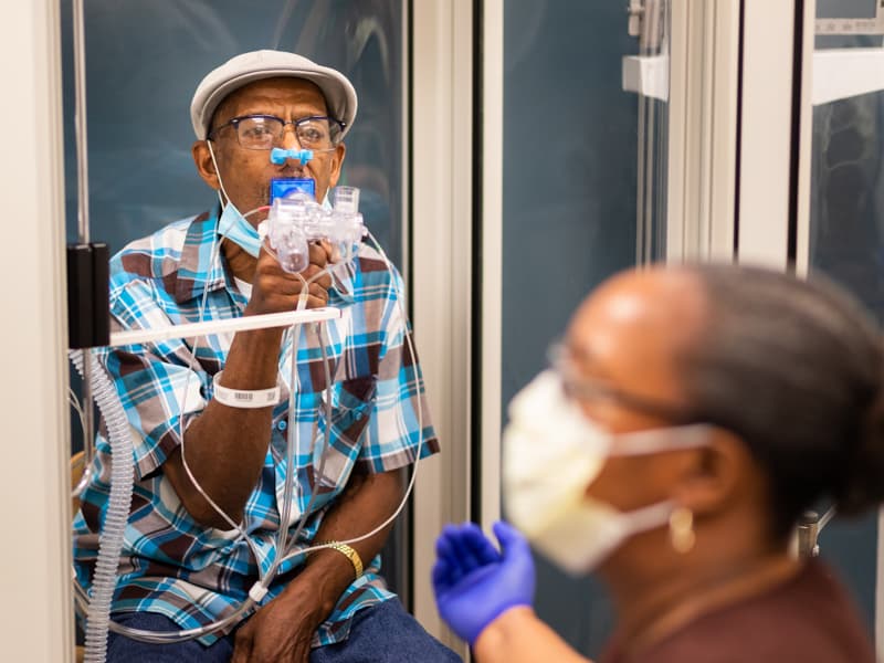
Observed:
[[[638,42],[620,3],[509,1],[504,11],[505,406],[544,367],[577,304],[635,263],[636,165],[653,188],[665,161],[659,151],[636,158],[643,102],[621,90],[621,57],[638,54]],[[652,103],[657,140],[665,104]],[[601,588],[537,561],[538,614],[597,656],[613,625]]]

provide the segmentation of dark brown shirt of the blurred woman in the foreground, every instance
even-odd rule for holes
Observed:
[[[698,617],[627,655],[614,636],[600,663],[875,663],[853,601],[832,571],[812,560],[762,594]]]

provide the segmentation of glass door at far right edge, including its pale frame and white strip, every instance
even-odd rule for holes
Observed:
[[[798,230],[797,263],[800,272],[825,275],[852,292],[881,324],[884,2],[817,0],[813,19],[812,60],[804,62],[812,67],[809,206]],[[825,505],[819,513],[819,552],[852,589],[881,653],[882,516],[842,520]]]

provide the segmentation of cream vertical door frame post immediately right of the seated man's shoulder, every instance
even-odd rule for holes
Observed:
[[[473,287],[473,0],[410,2],[412,322],[442,453],[414,486],[414,615],[462,655],[430,576],[445,523],[471,513]]]

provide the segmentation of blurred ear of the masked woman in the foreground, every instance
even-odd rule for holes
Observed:
[[[709,443],[685,454],[673,499],[694,515],[715,515],[757,496],[755,459],[734,433],[712,429]]]

